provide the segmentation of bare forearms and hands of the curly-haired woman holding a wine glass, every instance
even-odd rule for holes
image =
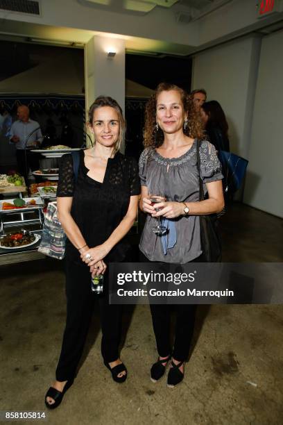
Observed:
[[[224,208],[224,198],[222,181],[212,181],[207,183],[208,199],[198,202],[185,202],[189,207],[189,215],[207,215],[218,213]],[[141,201],[139,203],[141,210],[145,213],[158,217],[159,215],[167,218],[180,217],[184,214],[185,205],[182,202],[160,202],[155,204],[155,208],[162,208],[156,211],[151,206],[151,201],[148,199],[148,190],[146,186],[141,187]]]

